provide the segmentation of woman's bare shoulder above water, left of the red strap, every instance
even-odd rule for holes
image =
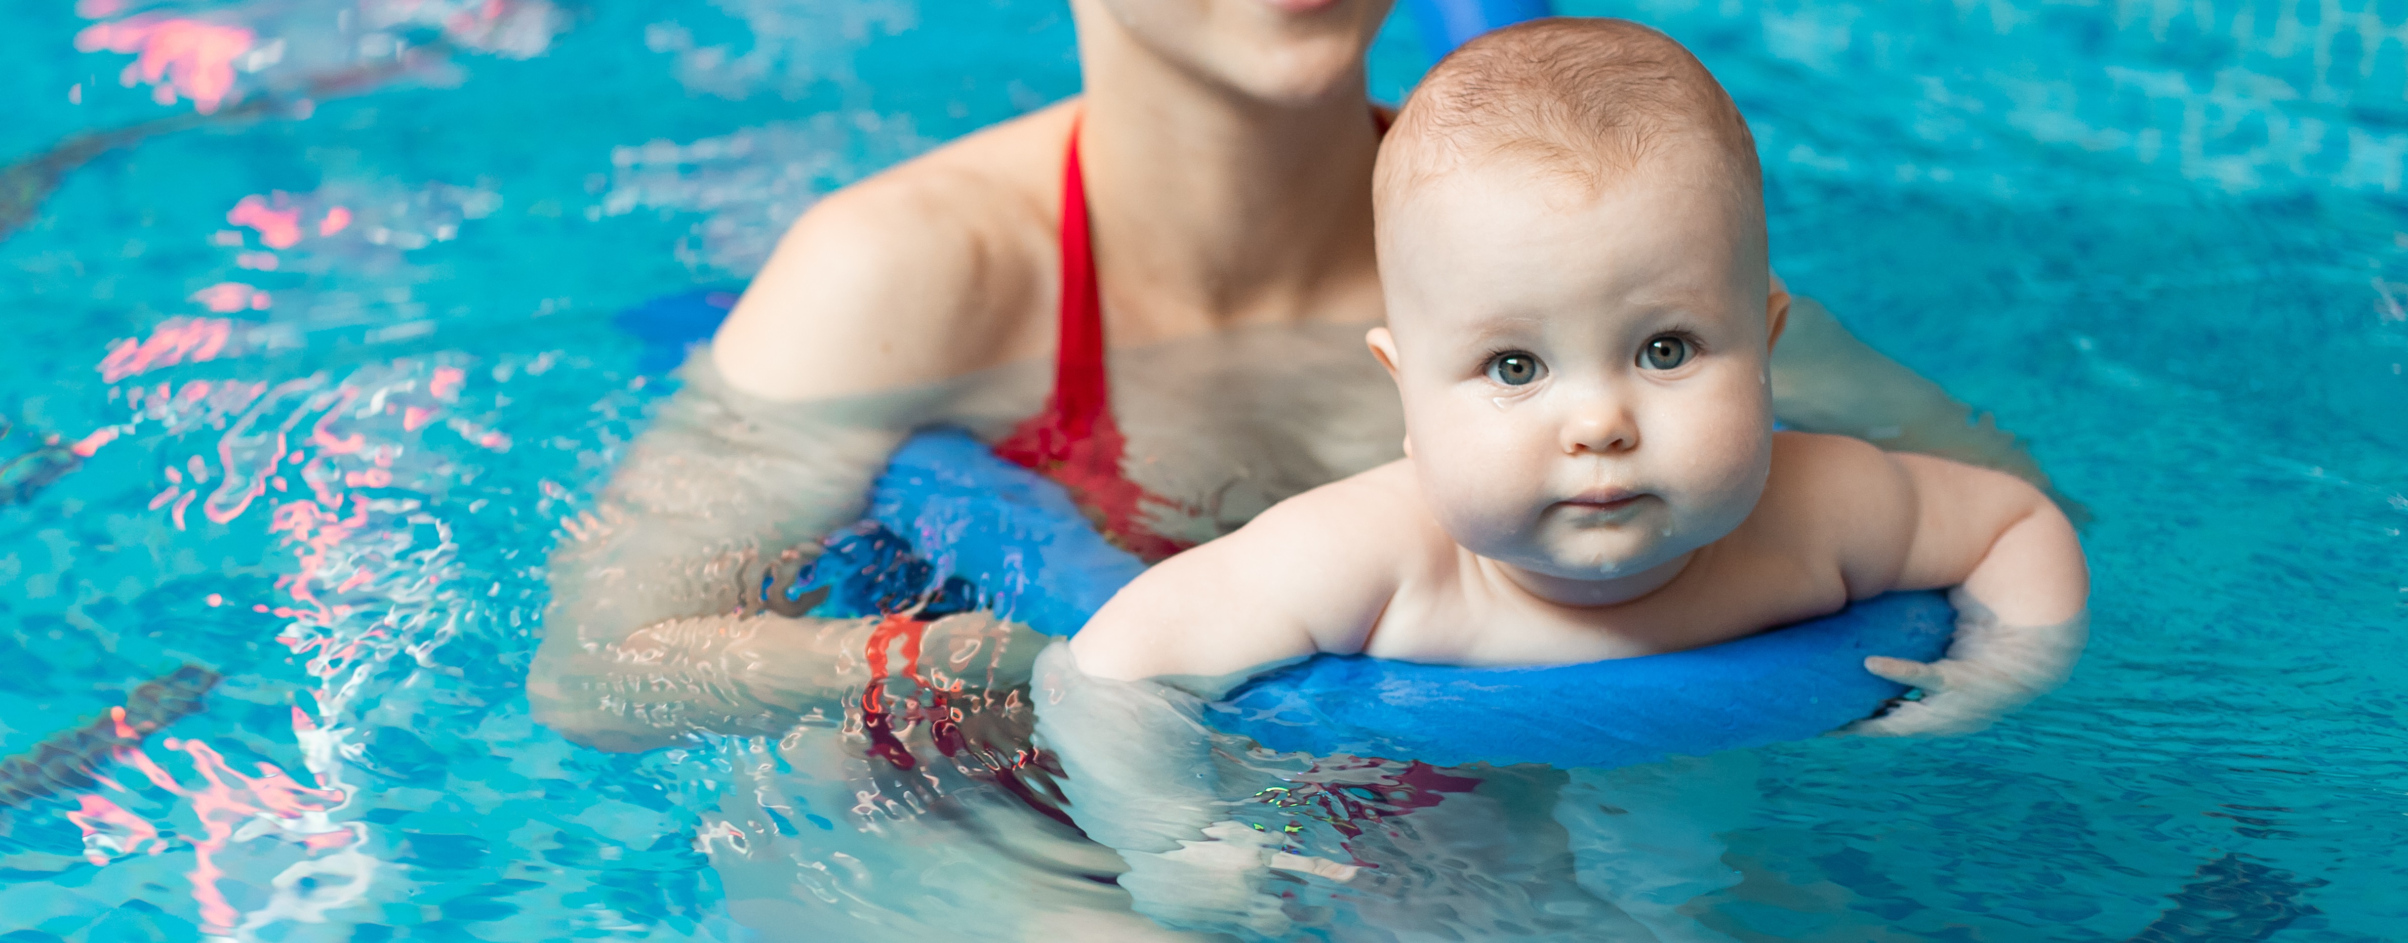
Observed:
[[[720,327],[720,373],[819,399],[1043,356],[1069,127],[1052,106],[831,192]]]

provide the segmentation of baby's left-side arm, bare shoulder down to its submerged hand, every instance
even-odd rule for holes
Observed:
[[[1394,592],[1394,515],[1365,517],[1353,481],[1158,563],[1038,662],[1038,741],[1062,760],[1069,816],[1120,852],[1120,885],[1163,926],[1286,936],[1291,878],[1274,871],[1353,876],[1235,818],[1235,799],[1300,770],[1204,724],[1206,700],[1269,666],[1361,650]]]

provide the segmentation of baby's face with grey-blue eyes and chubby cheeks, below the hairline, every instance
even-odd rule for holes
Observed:
[[[1743,231],[1758,217],[1695,178],[1640,168],[1589,197],[1493,164],[1382,204],[1373,346],[1462,546],[1556,580],[1642,577],[1755,508],[1787,296]]]

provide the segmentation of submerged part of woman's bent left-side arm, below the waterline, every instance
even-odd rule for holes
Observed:
[[[527,676],[537,719],[612,751],[694,729],[780,731],[761,669],[833,690],[860,671],[864,623],[799,616],[780,589],[819,536],[860,515],[901,433],[840,409],[763,404],[708,363],[619,464],[597,510],[566,522]],[[855,652],[848,664],[838,654]],[[785,705],[799,707],[799,705]]]

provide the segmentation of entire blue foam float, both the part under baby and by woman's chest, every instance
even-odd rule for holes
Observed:
[[[828,589],[824,616],[992,609],[1072,635],[1141,570],[1057,484],[970,435],[922,433],[879,479],[869,517],[831,539],[792,594]],[[1247,681],[1211,722],[1317,755],[1616,767],[1869,717],[1905,688],[1866,674],[1864,657],[1934,659],[1950,628],[1948,604],[1914,592],[1693,652],[1553,669],[1315,657]]]

